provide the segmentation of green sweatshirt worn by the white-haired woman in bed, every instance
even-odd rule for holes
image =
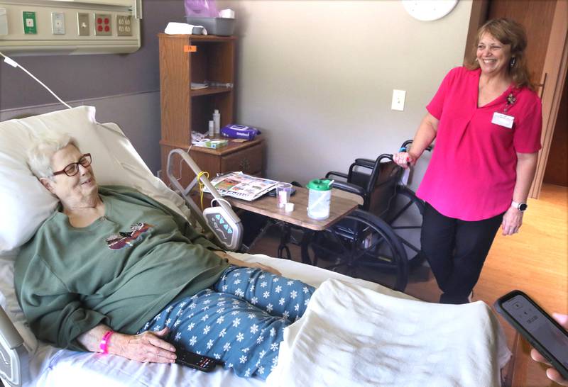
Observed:
[[[77,336],[100,323],[134,334],[228,266],[170,208],[122,186],[99,187],[99,195],[104,217],[74,228],[57,211],[16,259],[16,294],[31,330],[58,347],[84,351]]]

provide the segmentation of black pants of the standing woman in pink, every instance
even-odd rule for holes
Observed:
[[[426,203],[422,220],[422,254],[442,290],[440,303],[467,303],[503,220],[468,222],[448,218]]]

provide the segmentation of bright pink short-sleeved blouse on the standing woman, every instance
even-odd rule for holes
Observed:
[[[478,107],[480,74],[479,69],[452,69],[426,107],[439,124],[434,153],[417,191],[442,215],[470,221],[507,210],[517,153],[540,150],[542,128],[540,99],[527,88],[510,86]],[[507,105],[511,94],[515,102]],[[513,116],[513,128],[491,123],[495,112]]]

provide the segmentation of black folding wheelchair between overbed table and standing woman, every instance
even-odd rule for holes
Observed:
[[[412,140],[403,142],[406,150]],[[428,147],[427,150],[431,150]],[[393,288],[404,291],[410,265],[420,264],[420,229],[424,203],[400,178],[404,169],[393,155],[375,160],[356,159],[349,172],[328,172],[332,187],[359,198],[359,209],[324,231],[306,231],[302,237],[302,262],[325,269],[346,267],[357,276],[358,267],[372,267],[395,274]]]

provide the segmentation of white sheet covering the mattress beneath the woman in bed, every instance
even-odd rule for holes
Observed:
[[[12,255],[15,253],[12,253]],[[300,279],[312,286],[320,286],[323,281],[329,278],[340,279],[352,284],[358,284],[365,288],[370,288],[391,296],[411,298],[403,293],[392,291],[381,285],[361,279],[354,279],[349,276],[334,273],[300,264],[286,259],[268,257],[262,254],[234,254],[237,258],[249,262],[261,262],[278,269],[284,276]],[[9,263],[9,257],[0,257]],[[1,262],[0,262],[1,263]],[[13,265],[0,264],[0,276],[8,279],[13,277]],[[13,288],[3,286],[0,288],[2,294],[6,295],[7,302],[2,305],[6,312],[11,315],[20,315],[21,310],[17,304]],[[18,320],[16,318],[15,320]],[[57,349],[48,344],[39,342],[37,349],[33,349],[37,340],[31,332],[23,326],[21,322],[16,322],[16,328],[26,340],[26,347],[31,349],[29,369],[31,380],[26,386],[45,386],[45,387],[125,387],[125,386],[265,386],[266,383],[258,378],[239,378],[232,371],[217,367],[209,374],[188,369],[177,364],[140,364],[136,361],[94,353],[74,352],[67,349]]]

